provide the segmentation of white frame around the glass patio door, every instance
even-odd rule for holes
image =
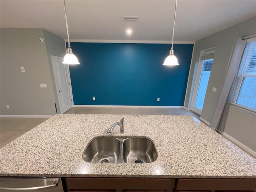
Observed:
[[[203,56],[215,53],[215,49],[216,49],[216,46],[201,50],[200,56],[199,56],[199,62],[198,62],[198,67],[196,72],[196,81],[193,88],[193,95],[192,95],[191,106],[190,106],[191,110],[196,112],[199,115],[201,115],[202,110],[196,108],[195,104],[196,104],[196,97],[197,97],[199,83],[200,83],[201,74],[202,74],[202,68],[203,68],[203,62],[204,62]]]

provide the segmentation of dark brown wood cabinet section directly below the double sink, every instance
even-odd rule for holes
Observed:
[[[175,179],[66,178],[68,192],[173,192]]]

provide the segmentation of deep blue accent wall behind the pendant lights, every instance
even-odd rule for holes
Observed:
[[[183,106],[193,44],[174,44],[180,65],[171,67],[162,65],[170,44],[73,42],[71,47],[80,62],[70,65],[75,105]]]

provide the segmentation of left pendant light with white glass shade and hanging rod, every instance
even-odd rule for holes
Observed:
[[[64,12],[65,12],[65,18],[66,18],[66,27],[67,27],[67,34],[68,34],[68,49],[67,49],[67,54],[64,56],[63,59],[63,64],[80,64],[78,62],[78,59],[76,58],[76,56],[73,54],[72,52],[72,48],[70,48],[70,42],[69,42],[69,33],[68,33],[68,20],[67,20],[67,13],[66,13],[66,4],[65,4],[65,0],[64,1]]]

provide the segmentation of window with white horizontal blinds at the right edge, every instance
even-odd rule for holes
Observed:
[[[256,110],[256,39],[248,42],[240,63],[231,102]]]

